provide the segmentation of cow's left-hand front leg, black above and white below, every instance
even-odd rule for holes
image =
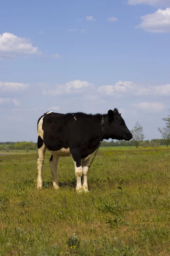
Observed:
[[[75,167],[75,175],[77,177],[77,186],[76,190],[78,192],[82,191],[82,182],[81,182],[81,177],[82,177],[82,166],[81,166],[81,155],[78,149],[73,149],[71,151],[71,155],[74,160],[74,167]]]

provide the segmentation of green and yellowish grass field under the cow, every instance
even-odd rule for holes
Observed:
[[[55,191],[49,156],[37,190],[37,154],[0,155],[0,255],[170,255],[170,150],[101,148],[89,193],[75,191],[71,157]]]

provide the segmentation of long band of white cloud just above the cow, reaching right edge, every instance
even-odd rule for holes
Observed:
[[[132,81],[117,81],[115,84],[105,84],[100,87],[95,86],[88,81],[74,80],[65,84],[42,84],[43,95],[65,95],[65,94],[83,94],[87,97],[96,96],[170,96],[170,84],[162,85],[138,85]],[[51,87],[51,88],[50,88]]]

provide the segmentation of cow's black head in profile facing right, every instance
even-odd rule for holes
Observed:
[[[107,123],[104,130],[106,137],[113,140],[131,140],[133,138],[117,108],[108,111]]]

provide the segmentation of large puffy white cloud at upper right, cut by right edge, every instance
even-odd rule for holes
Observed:
[[[158,9],[153,14],[141,17],[141,23],[136,28],[147,32],[169,33],[170,32],[170,8],[165,10]]]

